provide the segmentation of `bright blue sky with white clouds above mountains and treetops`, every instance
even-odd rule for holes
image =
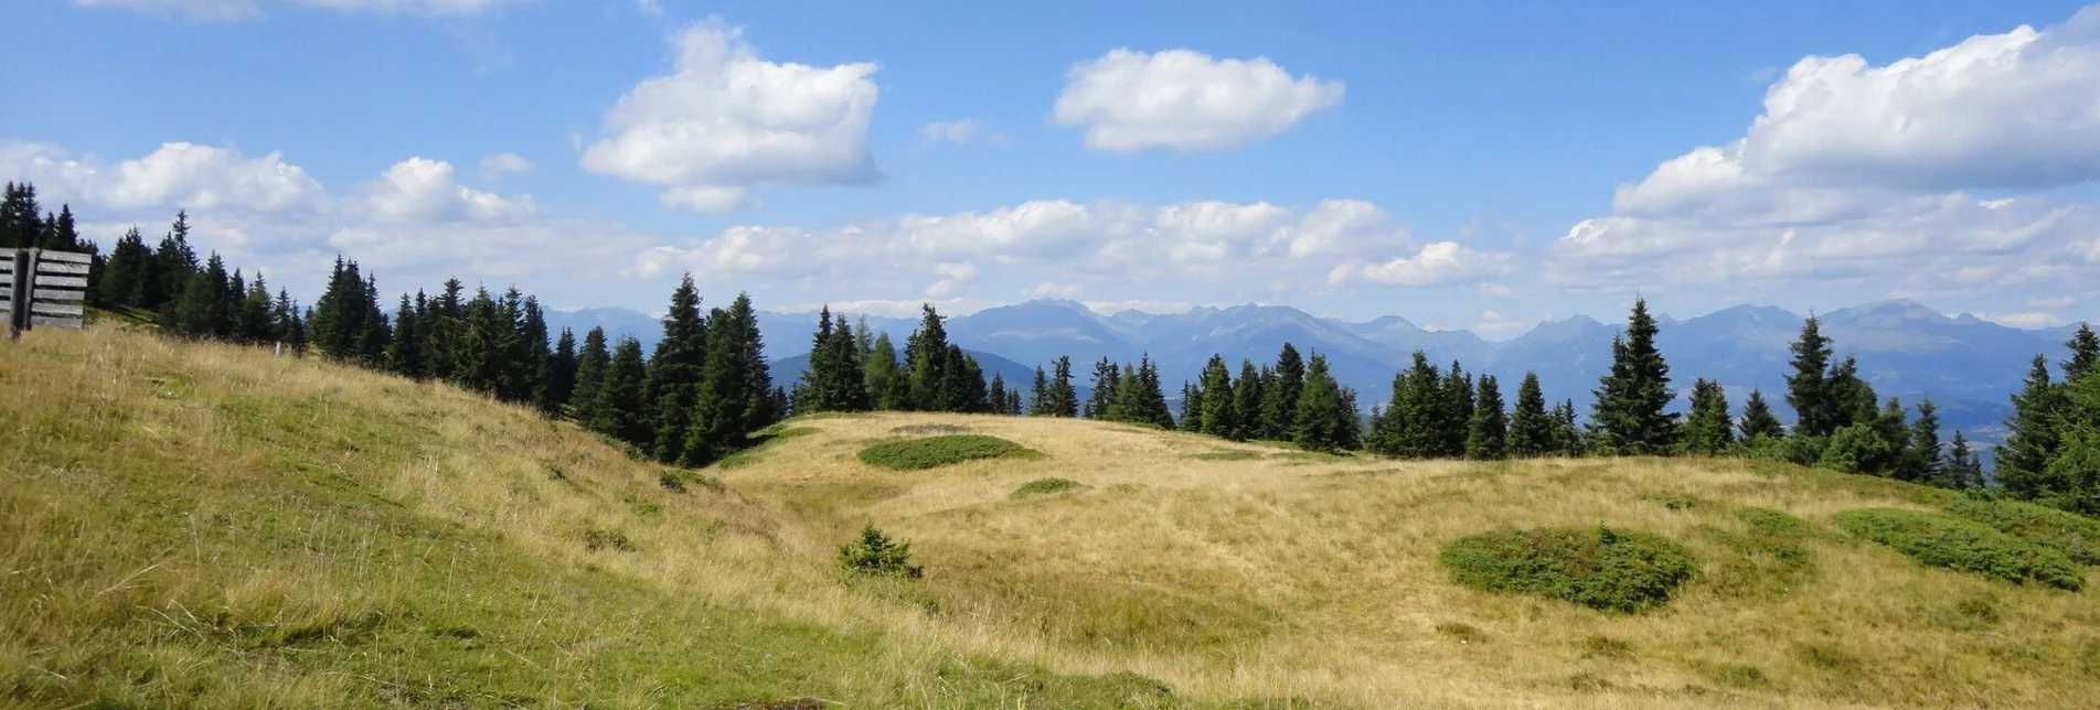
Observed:
[[[563,309],[659,311],[691,271],[769,309],[1258,300],[1491,338],[1634,292],[2054,326],[2100,315],[2073,17],[27,0],[0,172],[105,244],[187,208],[294,290],[344,252]]]

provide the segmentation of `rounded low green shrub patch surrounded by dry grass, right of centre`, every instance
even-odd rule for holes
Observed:
[[[1457,584],[1623,613],[1663,605],[1695,569],[1690,552],[1667,538],[1602,525],[1466,536],[1438,557]]]

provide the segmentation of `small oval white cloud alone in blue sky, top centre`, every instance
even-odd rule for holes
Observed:
[[[1086,145],[1100,151],[1214,151],[1279,134],[1342,103],[1342,90],[1310,74],[1292,78],[1268,57],[1119,48],[1073,65],[1052,116],[1086,126]]]

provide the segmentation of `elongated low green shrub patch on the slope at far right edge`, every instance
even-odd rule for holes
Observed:
[[[2083,569],[2064,552],[2008,536],[1991,525],[1900,508],[1838,513],[1838,527],[1909,555],[1926,565],[2077,590]]]

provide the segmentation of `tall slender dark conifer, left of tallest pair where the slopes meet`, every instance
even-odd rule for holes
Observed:
[[[710,323],[699,317],[699,288],[693,275],[678,279],[664,313],[664,338],[649,357],[643,397],[649,401],[649,454],[664,462],[685,454],[693,424],[693,399],[699,395],[701,368],[708,361]]]

